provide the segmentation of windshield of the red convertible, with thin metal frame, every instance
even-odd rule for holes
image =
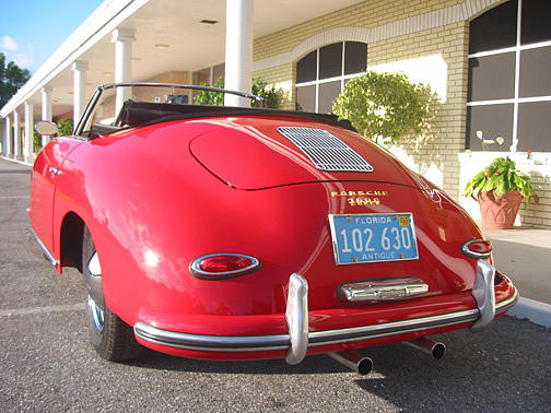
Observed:
[[[99,86],[90,101],[75,134],[96,138],[121,128],[162,119],[176,114],[197,110],[194,102],[219,104],[221,96],[231,93],[262,106],[262,98],[241,92],[210,86],[162,83],[119,83]]]

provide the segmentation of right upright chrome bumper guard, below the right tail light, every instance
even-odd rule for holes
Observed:
[[[477,278],[472,286],[472,296],[477,302],[480,318],[472,324],[473,330],[489,326],[495,317],[495,268],[478,260]]]

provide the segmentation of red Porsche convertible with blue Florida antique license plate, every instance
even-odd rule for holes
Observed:
[[[101,86],[34,164],[33,234],[59,273],[83,273],[101,356],[329,353],[365,373],[355,349],[439,356],[426,335],[516,303],[469,215],[350,123],[171,98],[194,87],[220,92]]]

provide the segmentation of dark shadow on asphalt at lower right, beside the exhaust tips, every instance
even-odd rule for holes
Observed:
[[[355,384],[406,411],[549,411],[551,330],[504,317],[434,340],[447,346],[441,361],[401,344],[372,349],[375,371]]]

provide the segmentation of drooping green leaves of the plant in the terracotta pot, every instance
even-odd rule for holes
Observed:
[[[509,191],[518,191],[527,203],[534,198],[539,201],[536,190],[530,185],[530,177],[516,169],[516,163],[508,157],[496,157],[483,170],[467,182],[464,194],[478,199],[483,192],[494,191],[497,198]]]

